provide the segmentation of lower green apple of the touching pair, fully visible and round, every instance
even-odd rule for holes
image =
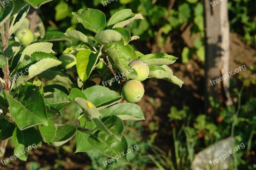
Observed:
[[[144,87],[138,80],[129,80],[124,84],[122,94],[124,100],[130,103],[137,103],[144,95]]]

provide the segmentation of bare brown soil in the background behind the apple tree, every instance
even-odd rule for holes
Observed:
[[[190,110],[194,113],[203,113],[203,82],[204,82],[204,64],[198,59],[197,56],[193,56],[187,64],[181,63],[181,51],[183,47],[191,46],[193,44],[193,39],[186,30],[178,39],[172,37],[170,42],[164,45],[164,48],[156,48],[154,52],[164,52],[172,54],[180,59],[176,63],[172,64],[170,68],[173,70],[173,74],[184,81],[182,88],[180,89],[177,85],[173,85],[165,80],[158,79],[147,79],[143,82],[145,86],[145,94],[142,100],[138,103],[142,108],[145,121],[140,121],[144,126],[144,137],[148,137],[154,132],[150,131],[149,123],[156,122],[158,125],[157,137],[155,144],[168,152],[169,149],[173,149],[173,142],[171,139],[172,127],[168,121],[167,114],[170,112],[170,107],[175,106],[182,109],[184,105],[188,106]],[[175,41],[179,40],[179,41]],[[181,44],[180,44],[181,43]],[[148,54],[152,50],[150,43],[144,43],[143,45],[138,45],[137,47],[144,50],[144,54]],[[230,70],[235,70],[241,63],[244,63],[247,68],[254,65],[255,62],[255,49],[246,45],[242,41],[242,37],[236,33],[230,34]],[[255,72],[255,71],[254,71]],[[244,75],[244,74],[243,74]],[[237,76],[237,75],[236,75]],[[236,76],[232,78],[237,78]],[[244,75],[248,76],[248,75]],[[152,102],[152,99],[153,102]],[[168,127],[168,128],[166,128]],[[4,158],[6,159],[12,156],[13,149],[7,148]],[[54,147],[47,146],[43,143],[40,148],[30,151],[28,153],[28,161],[12,161],[6,167],[1,166],[2,170],[9,169],[29,169],[30,162],[36,162],[40,167],[50,166],[54,169],[55,159],[63,160],[62,169],[87,169],[88,165],[91,164],[89,157],[86,153],[68,153],[60,149],[61,158],[58,158],[58,154]]]

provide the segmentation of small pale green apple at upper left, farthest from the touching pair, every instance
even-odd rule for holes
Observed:
[[[29,45],[34,41],[34,35],[28,28],[20,28],[15,33],[15,37],[19,39],[23,46]]]

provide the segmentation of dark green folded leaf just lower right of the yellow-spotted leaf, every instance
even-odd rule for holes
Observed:
[[[124,122],[119,117],[112,115],[105,120],[93,118],[92,121],[98,128],[104,130],[111,136],[113,135],[116,137],[116,139],[121,141],[124,130]]]

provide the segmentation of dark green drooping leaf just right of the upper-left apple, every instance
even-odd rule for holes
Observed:
[[[41,42],[47,42],[47,41],[68,41],[72,43],[71,40],[69,40],[64,33],[60,31],[47,31],[44,38],[41,38],[39,41]]]

